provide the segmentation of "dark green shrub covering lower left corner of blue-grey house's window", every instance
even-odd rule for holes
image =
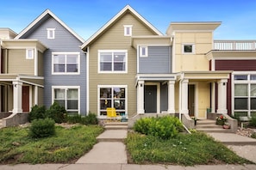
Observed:
[[[47,118],[53,118],[58,124],[66,122],[66,109],[64,106],[60,106],[58,102],[54,102],[47,110],[46,114]]]

